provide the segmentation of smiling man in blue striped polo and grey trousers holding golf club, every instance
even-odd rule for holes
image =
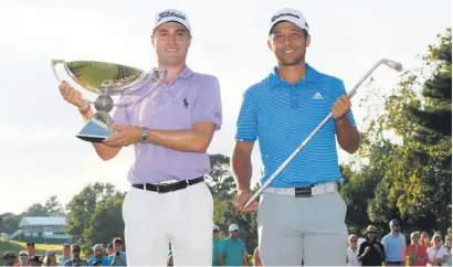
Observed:
[[[308,142],[261,196],[259,249],[263,265],[345,265],[346,204],[337,192],[340,180],[336,140],[349,153],[360,136],[341,79],[305,63],[310,43],[308,23],[293,9],[271,20],[268,47],[277,66],[244,92],[236,122],[232,169],[238,196],[234,206],[252,212],[251,153],[255,140],[264,165],[264,183],[331,111],[333,118]]]

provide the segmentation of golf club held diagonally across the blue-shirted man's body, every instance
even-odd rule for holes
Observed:
[[[384,64],[391,68],[393,68],[397,72],[402,71],[402,65],[401,63],[390,61],[387,58],[382,58],[378,61],[375,66],[371,67],[365,74],[365,76],[354,86],[354,88],[349,92],[348,97],[351,98],[356,92],[357,88],[368,78],[368,76],[371,75],[371,73],[381,64]],[[283,171],[283,169],[297,156],[298,152],[301,152],[302,149],[312,140],[312,138],[327,124],[327,121],[331,118],[331,111],[330,114],[315,128],[315,130],[309,134],[307,138],[298,146],[298,148],[278,167],[278,169],[272,173],[272,175],[267,179],[267,181],[252,195],[252,197],[245,203],[244,207],[247,207],[250,204],[252,204],[259,196],[260,194],[274,181],[274,179]]]

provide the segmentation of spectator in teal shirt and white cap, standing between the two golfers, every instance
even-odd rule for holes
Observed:
[[[230,225],[229,232],[230,236],[224,238],[220,246],[220,266],[249,266],[245,243],[239,238],[238,225]]]

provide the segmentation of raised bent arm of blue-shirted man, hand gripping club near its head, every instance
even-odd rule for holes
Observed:
[[[356,127],[351,103],[346,95],[345,84],[339,82],[339,95],[333,106],[338,145],[348,153],[355,153],[360,145],[360,134]],[[338,118],[336,116],[339,116]]]

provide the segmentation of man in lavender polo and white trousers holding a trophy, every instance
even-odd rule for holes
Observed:
[[[166,265],[170,239],[175,265],[208,266],[213,203],[203,175],[210,172],[206,151],[222,125],[219,81],[186,65],[191,30],[183,12],[157,13],[151,42],[158,66],[168,72],[166,81],[141,103],[117,108],[117,134],[93,146],[103,160],[110,160],[122,147],[134,145],[133,188],[123,204],[127,265]],[[85,121],[93,116],[67,83],[60,90]]]

